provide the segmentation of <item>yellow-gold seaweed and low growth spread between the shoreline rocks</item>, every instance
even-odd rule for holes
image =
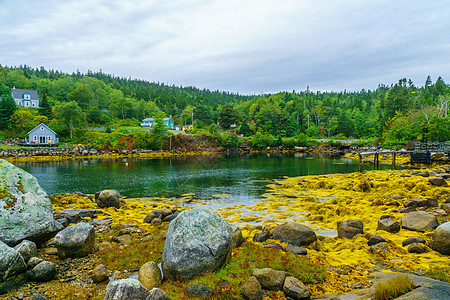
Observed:
[[[433,185],[428,180],[430,177],[426,176],[445,172],[450,172],[449,165],[420,170],[366,171],[274,180],[266,194],[255,200],[254,204],[236,203],[213,210],[230,223],[240,226],[247,240],[243,246],[233,250],[232,260],[226,267],[186,282],[166,280],[161,289],[171,299],[188,299],[186,287],[198,282],[212,289],[212,299],[236,299],[250,268],[267,267],[293,272],[289,269],[291,264],[300,273],[302,270],[311,273],[312,277],[302,279],[312,296],[329,293],[373,296],[375,287],[371,274],[379,271],[430,276],[450,282],[448,256],[430,247],[433,230],[418,232],[401,229],[396,233],[378,230],[380,218],[387,216],[391,221],[401,219],[405,215],[401,208],[406,207],[413,198],[434,198],[438,205],[449,202],[448,186]],[[98,227],[96,252],[82,262],[76,259],[69,263],[58,261],[49,245],[40,250],[40,257],[65,268],[59,275],[59,282],[33,286],[50,299],[102,299],[106,285],[86,281],[87,272],[98,264],[103,264],[112,278],[120,279],[135,274],[148,260],[161,260],[168,223],[144,223],[147,213],[163,209],[182,211],[211,204],[196,200],[195,195],[191,194],[170,199],[121,198],[119,209],[99,208],[88,197],[77,194],[55,194],[50,199],[54,212],[66,209],[97,210],[96,222],[105,220],[111,223]],[[220,199],[218,195],[214,203],[221,204]],[[440,224],[450,221],[448,211],[438,206],[423,207],[421,210],[437,216]],[[361,220],[364,232],[350,239],[337,237],[337,223],[349,219]],[[307,255],[296,256],[274,248],[273,243],[282,248],[287,246],[278,240],[254,240],[258,234],[270,232],[289,220],[305,224],[317,233],[318,240],[305,247]],[[124,232],[131,236],[130,240],[118,239]],[[381,246],[370,246],[368,240],[372,235],[381,236],[385,242]],[[408,245],[403,246],[404,241],[410,238],[423,239],[424,243],[419,244],[423,253],[411,253]],[[223,282],[228,283],[222,285]],[[27,293],[29,288],[26,285],[8,295]],[[282,292],[268,292],[265,296],[267,299],[285,299]]]

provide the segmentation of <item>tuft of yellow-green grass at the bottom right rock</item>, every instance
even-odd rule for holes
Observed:
[[[414,282],[408,275],[400,275],[380,282],[375,286],[375,300],[394,299],[414,289]]]

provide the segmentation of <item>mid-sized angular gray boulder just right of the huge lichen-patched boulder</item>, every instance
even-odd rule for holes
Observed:
[[[54,238],[60,258],[83,257],[94,249],[94,226],[81,222],[58,232]]]

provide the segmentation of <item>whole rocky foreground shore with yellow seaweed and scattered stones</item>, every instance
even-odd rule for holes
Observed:
[[[2,163],[2,167],[3,164],[6,163]],[[8,170],[6,173],[12,176]],[[5,174],[2,176],[9,178]],[[20,181],[12,184],[16,196],[12,196],[11,189],[6,189],[8,194],[2,188],[0,202],[4,203],[0,210],[10,212],[17,208],[19,213],[26,208],[24,204],[28,202],[21,198],[28,195],[30,189],[23,179],[25,176],[21,174]],[[37,242],[33,246],[31,242],[23,242],[27,240],[25,237],[14,241],[2,238],[9,241],[10,246],[25,243],[16,245],[18,249],[32,249],[29,255],[10,246],[0,247],[3,249],[0,253],[13,253],[14,261],[19,264],[19,256],[27,261],[25,267],[11,268],[14,264],[5,263],[0,255],[0,262],[3,262],[0,263],[0,286],[11,283],[10,278],[17,279],[20,282],[17,285],[21,286],[14,290],[7,288],[8,292],[2,297],[112,299],[117,293],[148,299],[166,299],[167,295],[172,299],[217,295],[228,295],[229,298],[224,299],[339,299],[349,294],[369,297],[376,283],[372,276],[379,271],[421,276],[431,276],[435,269],[449,271],[448,178],[448,166],[421,171],[286,178],[275,181],[271,190],[253,206],[235,205],[215,210],[221,217],[215,213],[205,215],[207,219],[212,218],[211,221],[201,219],[203,211],[210,214],[208,210],[199,209],[205,203],[189,195],[179,199],[127,199],[110,190],[96,195],[52,195],[49,197],[53,211],[51,221],[60,224],[54,239],[42,242],[32,235],[29,238]],[[248,211],[259,213],[249,217]],[[192,212],[191,215],[188,212]],[[184,228],[182,216],[189,220],[185,224],[199,222],[202,226],[178,231]],[[229,223],[224,220],[224,229],[218,229],[222,218]],[[173,223],[174,220],[177,223]],[[0,219],[0,226],[2,221]],[[225,229],[226,224],[234,225]],[[337,236],[322,233],[324,228],[335,229]],[[191,232],[197,235],[189,235]],[[191,271],[171,275],[185,280],[180,283],[156,277],[154,285],[143,279],[148,277],[150,282],[155,281],[155,276],[148,274],[158,274],[151,271],[158,263],[182,265],[183,255],[178,254],[172,256],[177,263],[168,263],[169,258],[164,254],[168,251],[165,249],[168,240],[189,236],[190,251],[195,249],[191,242],[203,243],[205,236],[224,232],[228,233],[221,238],[222,235],[211,238],[207,252],[198,250],[201,255],[190,256],[204,261],[210,251],[214,254],[211,258],[228,257],[226,253],[229,253],[224,266],[221,258],[222,262],[210,269],[214,272],[193,275],[192,280],[191,275],[186,275]],[[225,246],[218,246],[221,245],[217,244],[218,240],[223,240]],[[185,249],[183,243],[178,245]],[[219,254],[214,249],[225,252]],[[184,251],[187,250],[182,253]],[[291,264],[295,268],[291,269]],[[214,266],[214,263],[206,265]],[[34,270],[37,266],[42,270]],[[302,268],[307,268],[310,277],[299,271]],[[200,271],[208,269],[201,267]],[[28,279],[16,278],[20,274],[26,274]],[[426,281],[416,277],[413,278],[417,282]],[[129,279],[121,280],[125,278]],[[434,295],[450,296],[448,283],[427,280],[427,284],[437,286]],[[107,287],[108,281],[116,283]],[[411,293],[418,292],[428,293],[421,287]],[[114,299],[122,299],[117,297]]]

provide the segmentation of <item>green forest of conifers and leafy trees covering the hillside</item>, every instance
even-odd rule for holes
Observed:
[[[39,109],[15,106],[12,87],[37,90]],[[69,137],[73,130],[136,126],[145,117],[165,115],[180,126],[193,121],[195,130],[226,133],[233,144],[237,142],[231,133],[252,137],[254,144],[272,145],[307,138],[372,139],[386,146],[407,140],[450,140],[450,89],[441,77],[433,82],[428,76],[423,86],[402,78],[389,86],[380,84],[374,91],[307,88],[240,95],[101,71],[65,74],[43,67],[0,65],[0,95],[0,130],[6,136],[24,137],[39,122]]]

